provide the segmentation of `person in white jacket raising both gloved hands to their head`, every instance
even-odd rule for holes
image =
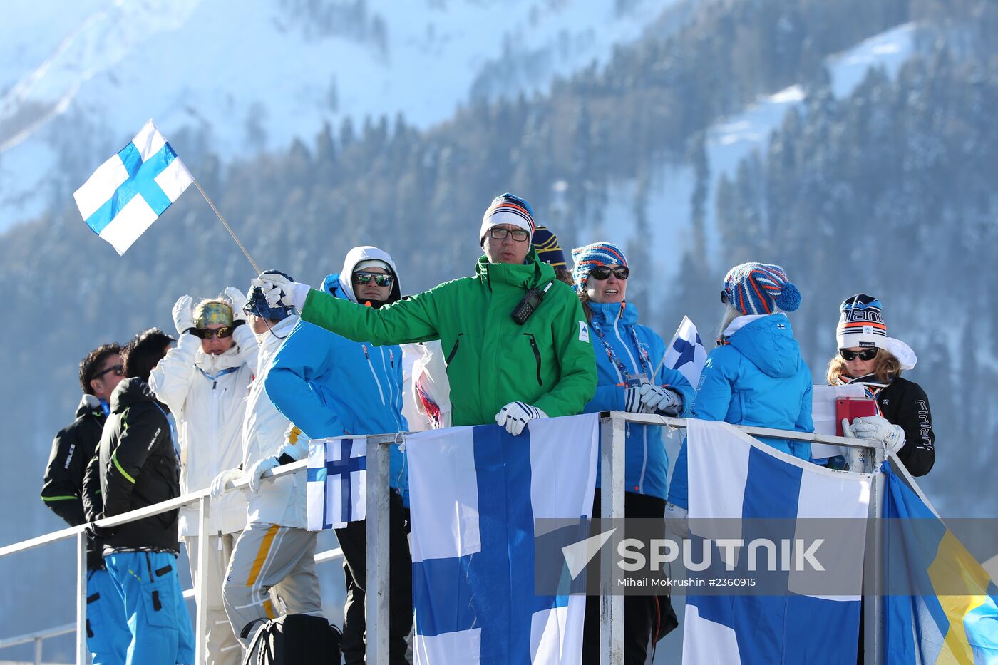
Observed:
[[[182,296],[173,317],[180,340],[150,376],[150,387],[174,413],[181,446],[181,492],[205,489],[220,471],[243,458],[243,418],[256,371],[256,338],[246,324],[246,298],[233,287],[225,297],[197,306]],[[246,493],[230,492],[213,501],[209,515],[208,570],[198,570],[198,508],[180,513],[180,536],[187,546],[191,577],[206,575],[208,663],[238,665],[240,643],[229,624],[222,587],[236,538],[246,526]]]

